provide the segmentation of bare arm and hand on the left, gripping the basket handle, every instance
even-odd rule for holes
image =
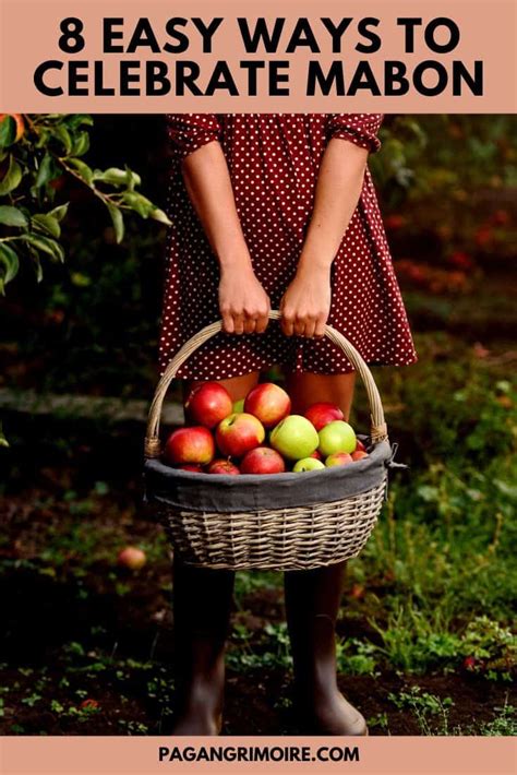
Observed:
[[[219,262],[223,329],[228,334],[260,334],[268,323],[269,298],[253,272],[220,144],[209,142],[190,153],[182,162],[182,171]]]

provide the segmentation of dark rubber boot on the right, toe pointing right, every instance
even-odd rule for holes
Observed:
[[[294,663],[294,711],[308,735],[368,735],[363,716],[342,696],[336,676],[336,620],[346,563],[285,574]]]

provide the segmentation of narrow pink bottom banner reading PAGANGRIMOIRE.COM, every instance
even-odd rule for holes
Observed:
[[[0,739],[0,772],[515,775],[515,754],[512,738],[13,737]]]

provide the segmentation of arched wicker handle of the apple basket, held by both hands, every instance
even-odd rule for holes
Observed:
[[[279,320],[280,312],[278,310],[272,310],[269,312],[269,320]],[[172,360],[169,361],[164,374],[158,382],[155,391],[155,395],[149,408],[149,415],[147,419],[147,432],[145,437],[145,450],[144,454],[146,457],[159,457],[161,452],[160,440],[159,440],[159,421],[161,417],[161,406],[164,398],[167,394],[170,383],[175,379],[178,369],[185,362],[188,358],[194,353],[201,345],[203,345],[207,339],[212,338],[223,330],[223,321],[218,320],[211,325],[205,326],[197,332],[192,338],[190,338],[185,344],[178,350]],[[372,377],[372,372],[368,368],[363,358],[359,355],[357,349],[350,342],[345,338],[342,334],[333,329],[330,325],[325,326],[325,336],[330,342],[334,342],[347,356],[356,371],[359,372],[368,393],[368,400],[370,403],[371,413],[371,439],[372,443],[378,444],[378,442],[387,439],[387,427],[384,420],[384,410],[381,402],[381,396],[378,394],[377,386]]]

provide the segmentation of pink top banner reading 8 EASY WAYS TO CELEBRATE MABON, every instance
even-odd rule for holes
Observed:
[[[5,112],[515,112],[514,0],[0,0]]]

